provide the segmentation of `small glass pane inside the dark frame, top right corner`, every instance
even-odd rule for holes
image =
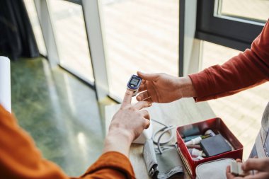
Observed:
[[[251,20],[267,21],[269,1],[265,0],[222,0],[221,14]]]

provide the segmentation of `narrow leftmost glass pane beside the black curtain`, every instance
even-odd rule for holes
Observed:
[[[32,28],[35,34],[35,40],[38,43],[38,50],[40,54],[46,56],[47,50],[45,47],[44,38],[43,38],[42,31],[40,28],[40,23],[38,21],[38,13],[36,12],[35,4],[33,0],[24,0],[24,3],[25,3],[28,16],[30,18],[30,22],[32,24]]]

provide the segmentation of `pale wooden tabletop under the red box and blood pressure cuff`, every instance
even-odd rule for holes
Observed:
[[[108,126],[115,112],[118,111],[120,105],[108,105],[105,107],[105,127],[108,131]],[[183,98],[173,103],[158,104],[154,103],[150,108],[147,108],[151,119],[163,122],[166,125],[188,125],[193,122],[207,120],[215,117],[214,112],[206,102],[195,103],[193,98]],[[158,124],[153,125],[153,130],[159,129]],[[176,129],[174,129],[176,134]],[[176,142],[174,137],[172,142]],[[135,171],[137,179],[147,179],[149,175],[144,164],[142,154],[143,146],[140,144],[132,144],[130,149],[130,161]]]

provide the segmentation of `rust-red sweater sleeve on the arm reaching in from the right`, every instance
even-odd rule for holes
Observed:
[[[269,81],[269,21],[251,50],[189,76],[198,94],[196,101],[229,96]]]

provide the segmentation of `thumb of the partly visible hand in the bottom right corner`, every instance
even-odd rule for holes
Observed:
[[[244,171],[266,171],[268,170],[269,159],[268,158],[248,158],[248,160],[242,164]]]

